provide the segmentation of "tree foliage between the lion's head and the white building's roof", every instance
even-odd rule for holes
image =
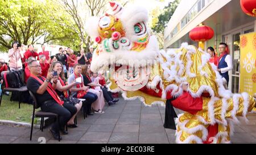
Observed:
[[[170,2],[168,6],[164,7],[163,13],[158,16],[158,22],[152,27],[152,30],[157,33],[163,33],[164,28],[174,14],[175,9],[179,5],[180,0]]]

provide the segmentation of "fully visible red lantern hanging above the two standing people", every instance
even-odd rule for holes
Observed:
[[[194,41],[207,41],[212,39],[214,31],[204,25],[197,26],[189,32],[189,37]]]

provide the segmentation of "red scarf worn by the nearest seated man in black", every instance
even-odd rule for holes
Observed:
[[[44,83],[40,78],[34,76],[31,74],[31,77],[36,79],[41,85]],[[46,78],[40,76],[43,80],[46,80]],[[56,91],[53,89],[51,83],[48,82],[48,85],[46,87],[46,90],[51,95],[51,97],[58,103],[60,106],[63,106],[63,100],[60,99],[59,95],[56,93]]]

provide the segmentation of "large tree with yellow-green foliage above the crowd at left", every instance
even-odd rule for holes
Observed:
[[[70,39],[75,32],[65,11],[59,10],[53,0],[0,1],[0,45],[11,48],[12,41],[35,44]]]

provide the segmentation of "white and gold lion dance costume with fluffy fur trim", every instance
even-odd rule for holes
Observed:
[[[175,121],[176,143],[209,143],[212,139],[230,143],[233,122],[238,122],[237,116],[246,119],[255,107],[254,98],[225,90],[216,66],[208,62],[208,53],[192,45],[159,51],[143,7],[123,8],[115,2],[110,6],[113,14],[92,17],[86,23],[90,37],[98,43],[90,69],[110,69],[109,90],[121,91],[125,99],[139,98],[148,106],[166,103],[183,110]],[[183,83],[188,84],[187,91],[181,89]]]

